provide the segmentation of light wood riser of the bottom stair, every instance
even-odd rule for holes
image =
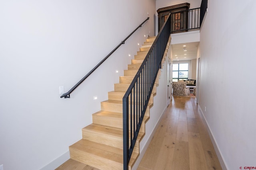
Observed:
[[[89,166],[93,166],[98,169],[104,170],[121,170],[123,169],[123,164],[114,162],[94,154],[89,154],[87,152],[82,152],[77,149],[69,148],[70,158],[78,162],[82,162]]]

